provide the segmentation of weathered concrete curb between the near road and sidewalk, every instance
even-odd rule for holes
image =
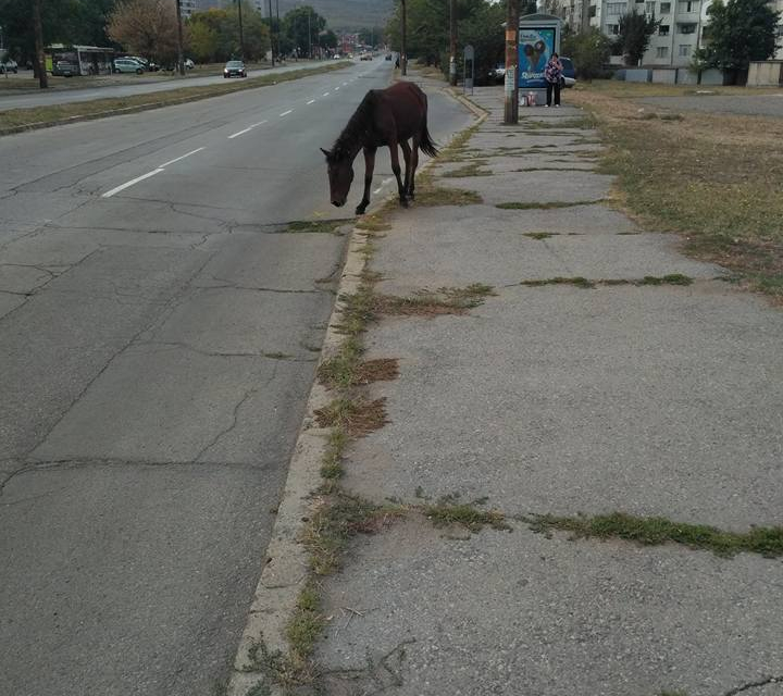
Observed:
[[[366,241],[365,231],[353,227],[348,244],[346,262],[337,288],[337,301],[330,316],[319,364],[340,349],[345,337],[336,326],[345,308],[340,299],[357,291],[366,262],[361,249]],[[299,431],[288,469],[272,539],[266,549],[266,563],[261,573],[248,621],[243,631],[234,659],[227,696],[245,696],[260,681],[268,680],[261,671],[248,669],[251,664],[248,650],[263,641],[270,652],[287,652],[285,627],[296,608],[297,598],[309,579],[309,554],[299,540],[312,512],[313,489],[321,481],[321,462],[331,428],[315,425],[314,411],[332,400],[326,388],[315,381],[310,390],[304,419]],[[275,684],[268,684],[275,693]]]

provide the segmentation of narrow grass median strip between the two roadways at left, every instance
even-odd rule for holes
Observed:
[[[211,97],[222,97],[236,91],[257,89],[259,87],[290,82],[310,75],[328,73],[348,67],[349,65],[352,65],[352,63],[340,61],[334,64],[304,67],[288,73],[274,73],[271,75],[249,77],[240,82],[226,80],[226,84],[220,85],[182,87],[179,89],[167,89],[165,91],[147,95],[135,95],[116,99],[95,99],[87,102],[72,102],[50,107],[35,107],[32,109],[11,109],[0,111],[0,135],[27,128],[42,128],[73,121],[103,119],[112,115],[148,111],[150,109],[160,109],[162,107],[198,101]]]

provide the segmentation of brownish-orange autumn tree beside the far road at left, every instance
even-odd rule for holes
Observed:
[[[176,7],[170,0],[120,0],[109,16],[108,34],[134,53],[172,62],[177,55]]]

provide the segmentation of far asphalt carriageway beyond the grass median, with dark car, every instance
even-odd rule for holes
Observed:
[[[286,65],[275,65],[268,70],[251,70],[248,77],[258,77],[260,75],[272,75],[275,73],[289,73],[294,70],[303,67],[316,67],[323,65],[326,61],[300,61],[290,62]],[[100,77],[79,78],[100,80]],[[27,109],[33,107],[51,107],[53,104],[70,103],[74,101],[94,101],[96,99],[119,99],[122,97],[133,97],[136,95],[147,95],[157,91],[169,91],[171,89],[182,89],[183,87],[203,87],[206,85],[222,85],[225,77],[215,75],[211,77],[191,77],[185,78],[154,78],[141,75],[115,75],[112,79],[125,79],[125,85],[103,86],[99,82],[92,87],[84,89],[61,89],[61,90],[40,90],[25,91],[22,94],[1,94],[0,92],[0,111],[10,109]],[[233,77],[232,79],[240,79]],[[2,89],[2,82],[0,82]]]

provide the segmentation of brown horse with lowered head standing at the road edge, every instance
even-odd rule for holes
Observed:
[[[435,157],[437,150],[426,127],[426,95],[413,83],[397,83],[386,89],[371,89],[348,121],[331,150],[321,151],[328,165],[332,203],[345,206],[353,182],[353,160],[364,150],[364,196],[356,209],[361,215],[370,203],[375,151],[388,146],[391,171],[397,177],[400,204],[408,207],[413,200],[414,176],[419,164],[419,150]],[[412,147],[408,140],[412,138]],[[400,178],[399,152],[406,161],[405,182]]]

